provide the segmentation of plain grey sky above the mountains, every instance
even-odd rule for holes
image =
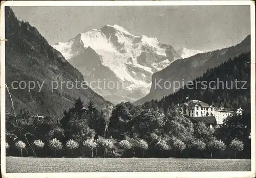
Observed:
[[[250,34],[249,6],[11,7],[50,44],[117,24],[131,34],[157,37],[175,49],[223,48]]]

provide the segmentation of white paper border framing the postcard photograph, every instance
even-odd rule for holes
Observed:
[[[250,6],[251,20],[251,171],[229,172],[63,172],[6,173],[5,148],[5,6]],[[3,177],[255,177],[255,4],[253,1],[6,1],[0,18],[1,172]],[[7,39],[8,40],[8,39]]]

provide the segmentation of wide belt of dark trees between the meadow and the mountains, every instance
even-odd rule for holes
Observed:
[[[10,115],[8,154],[17,155],[18,148],[39,157],[115,157],[121,148],[124,157],[212,157],[224,149],[237,155],[250,142],[245,116],[236,113],[219,128],[209,128],[173,110],[164,113],[129,102],[98,110],[93,101],[84,107],[78,98],[63,115],[60,122],[33,119],[25,110]]]

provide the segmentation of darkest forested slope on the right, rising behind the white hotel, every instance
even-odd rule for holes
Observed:
[[[218,80],[219,86],[217,85]],[[234,83],[236,80],[240,82],[237,84],[237,89]],[[207,88],[202,85],[202,81],[206,81]],[[211,81],[215,81],[216,84],[209,84]],[[196,82],[198,83],[197,85]],[[244,85],[244,83],[246,84]],[[211,85],[211,88],[209,85]],[[231,86],[232,89],[229,89]],[[213,89],[215,87],[216,89]],[[246,89],[242,89],[242,87]],[[198,99],[208,104],[214,103],[216,106],[221,105],[231,109],[241,107],[249,111],[250,52],[241,54],[233,60],[229,58],[227,62],[215,68],[208,69],[201,77],[193,81],[193,85],[185,86],[184,89],[180,89],[176,93],[165,96],[160,100],[147,101],[142,107],[159,107],[166,111],[167,109],[173,108],[173,106],[178,103],[187,101],[186,97],[189,97],[189,99]]]

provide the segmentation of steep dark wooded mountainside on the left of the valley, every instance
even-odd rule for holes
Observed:
[[[33,114],[60,118],[63,109],[72,107],[79,96],[87,103],[90,99],[97,106],[105,104],[103,97],[88,89],[61,89],[51,91],[51,82],[83,81],[82,74],[65,58],[48,44],[36,28],[28,22],[19,21],[11,8],[5,9],[6,19],[6,85],[9,87],[15,110],[21,108],[30,110]],[[13,81],[45,82],[41,91],[36,85],[28,92],[28,88],[12,89]],[[57,85],[57,84],[56,84]],[[24,87],[24,83],[22,85]],[[17,84],[14,86],[17,87]],[[6,112],[11,110],[11,100],[6,91]]]

